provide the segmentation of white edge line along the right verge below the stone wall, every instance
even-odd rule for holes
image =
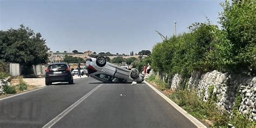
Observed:
[[[169,104],[171,104],[176,110],[178,110],[187,119],[189,119],[194,125],[196,125],[197,127],[202,127],[202,128],[204,127],[204,128],[206,128],[206,126],[203,123],[199,122],[199,120],[197,120],[195,117],[191,116],[191,114],[189,114],[187,111],[182,109],[179,105],[174,103],[170,98],[166,97],[163,93],[161,93],[159,90],[157,90],[150,83],[147,83],[146,81],[144,81],[144,83],[147,84],[148,86],[150,86],[151,89],[153,89],[155,92],[157,92],[158,95],[160,95],[162,98],[164,98]]]

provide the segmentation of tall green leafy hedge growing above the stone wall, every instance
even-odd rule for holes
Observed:
[[[194,23],[188,33],[170,37],[152,49],[152,69],[182,77],[193,71],[243,72],[256,74],[256,4],[221,4],[221,28]]]

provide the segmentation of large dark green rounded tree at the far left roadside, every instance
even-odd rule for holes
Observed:
[[[31,66],[46,63],[48,50],[41,33],[20,25],[18,29],[0,31],[0,60]]]

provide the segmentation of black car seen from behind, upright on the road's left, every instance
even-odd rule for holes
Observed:
[[[68,64],[52,63],[48,66],[45,73],[45,85],[50,85],[52,82],[73,84],[73,75]]]

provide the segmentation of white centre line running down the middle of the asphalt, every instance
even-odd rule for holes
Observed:
[[[53,118],[50,122],[45,124],[44,127],[52,127],[54,124],[56,124],[60,119],[62,119],[66,114],[68,114],[71,110],[73,110],[77,105],[83,102],[87,97],[89,97],[93,92],[95,92],[100,86],[103,84],[100,84],[96,86],[93,90],[88,92],[86,95],[84,95],[82,98],[78,99],[75,103],[73,103],[71,106],[68,107],[68,109],[64,110],[62,113],[58,114],[57,117]]]

